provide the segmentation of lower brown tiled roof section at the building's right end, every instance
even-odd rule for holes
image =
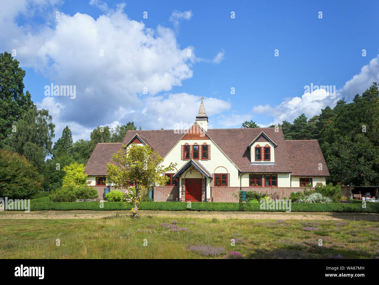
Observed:
[[[291,175],[329,176],[323,153],[317,139],[287,140]],[[319,170],[319,163],[322,169]]]

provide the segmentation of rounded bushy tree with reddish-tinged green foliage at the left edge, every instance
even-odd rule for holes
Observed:
[[[30,198],[42,189],[42,177],[23,155],[0,150],[0,197]]]

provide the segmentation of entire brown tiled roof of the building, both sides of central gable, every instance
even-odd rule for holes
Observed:
[[[247,147],[261,132],[265,132],[277,144],[274,165],[251,165],[250,149]],[[127,144],[136,134],[149,144],[154,152],[159,152],[165,157],[184,133],[174,130],[129,130],[122,144]],[[318,142],[286,141],[282,128],[279,128],[278,132],[275,132],[275,128],[208,129],[207,134],[241,172],[292,172],[291,175],[329,176]],[[112,154],[121,149],[122,144],[97,144],[88,160],[86,173],[106,175],[106,163],[111,163]],[[318,170],[318,163],[323,164],[322,171]]]

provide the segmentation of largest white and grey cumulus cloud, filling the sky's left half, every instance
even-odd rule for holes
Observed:
[[[194,121],[199,96],[157,96],[193,76],[196,55],[187,56],[187,49],[193,47],[181,49],[172,29],[160,25],[152,29],[129,19],[124,5],[112,9],[102,1],[91,0],[91,5],[105,12],[94,19],[87,14],[70,16],[63,12],[56,17],[59,4],[54,0],[16,0],[12,5],[0,5],[0,28],[6,31],[0,34],[2,47],[16,49],[23,67],[34,68],[51,83],[76,86],[75,99],[45,97],[37,103],[39,108],[51,110],[56,136],[66,125],[74,138],[88,138],[97,125],[134,120],[145,129],[172,128],[178,121]],[[28,20],[39,13],[49,20],[39,24],[30,21],[33,26],[17,24],[20,15]],[[179,22],[191,16],[191,11],[174,11],[171,19]],[[40,87],[40,94],[44,94],[44,86]],[[209,114],[230,108],[219,99],[205,102],[209,102]]]

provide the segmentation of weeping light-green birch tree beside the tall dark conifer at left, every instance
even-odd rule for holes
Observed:
[[[52,152],[55,128],[49,111],[31,108],[15,125],[15,132],[6,139],[4,149],[24,155],[43,172],[46,156]]]

